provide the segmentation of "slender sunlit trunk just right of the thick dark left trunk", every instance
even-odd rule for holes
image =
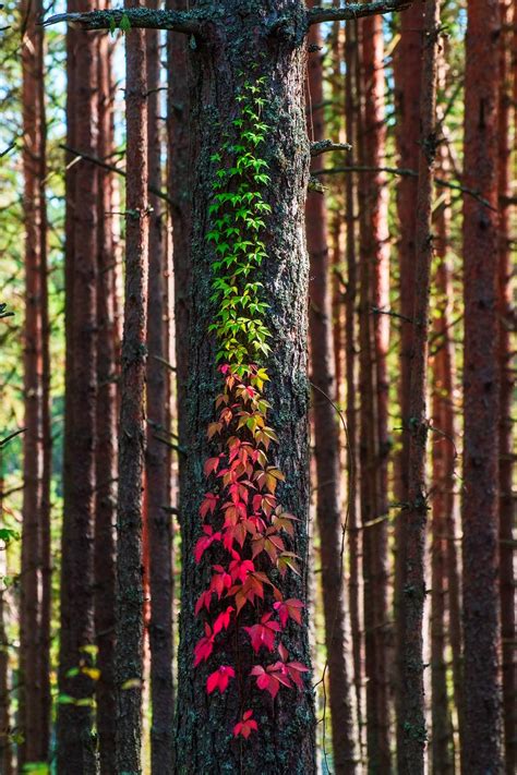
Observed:
[[[109,159],[113,147],[111,57],[109,39],[99,39],[98,157]],[[97,445],[95,501],[95,638],[98,649],[96,685],[97,730],[101,775],[116,772],[115,687],[115,519],[117,510],[117,352],[112,238],[112,173],[99,168],[97,275]]]

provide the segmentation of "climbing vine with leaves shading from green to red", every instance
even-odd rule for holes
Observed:
[[[280,687],[301,689],[309,668],[291,659],[281,642],[289,620],[301,625],[303,603],[286,600],[279,589],[288,572],[299,573],[300,558],[289,548],[298,519],[285,511],[277,494],[285,475],[273,462],[278,437],[268,425],[270,404],[264,398],[269,376],[263,364],[272,337],[263,322],[268,308],[264,287],[256,279],[267,259],[262,234],[272,211],[262,194],[269,183],[267,161],[261,158],[269,129],[262,119],[264,78],[244,82],[237,104],[231,135],[212,156],[218,168],[206,239],[215,250],[211,301],[217,312],[209,330],[217,338],[221,389],[207,428],[218,451],[204,464],[209,489],[200,507],[203,534],[194,553],[196,562],[207,561],[212,552],[219,561],[211,566],[209,584],[195,605],[204,635],[194,649],[194,666],[228,646],[230,630],[242,631],[257,664],[248,677],[236,665],[219,665],[208,675],[206,691],[223,693],[249,678],[249,686],[275,698]],[[253,616],[254,623],[244,625],[243,614],[247,622]],[[242,686],[239,697],[241,718],[233,735],[248,738],[257,723]]]

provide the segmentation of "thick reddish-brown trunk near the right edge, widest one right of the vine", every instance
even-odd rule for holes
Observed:
[[[465,775],[502,770],[498,598],[497,85],[498,0],[468,3],[464,184]]]

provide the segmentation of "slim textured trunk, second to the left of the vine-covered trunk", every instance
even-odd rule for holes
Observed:
[[[145,32],[127,36],[125,300],[117,508],[117,768],[141,773],[144,595],[142,475],[147,328],[147,77]]]

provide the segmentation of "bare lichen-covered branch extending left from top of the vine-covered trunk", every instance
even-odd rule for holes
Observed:
[[[146,29],[173,29],[185,35],[199,35],[205,14],[195,11],[156,11],[151,8],[125,8],[112,11],[89,11],[87,13],[58,13],[45,19],[41,24],[67,22],[83,29],[120,28],[122,19],[128,20],[131,27]]]

